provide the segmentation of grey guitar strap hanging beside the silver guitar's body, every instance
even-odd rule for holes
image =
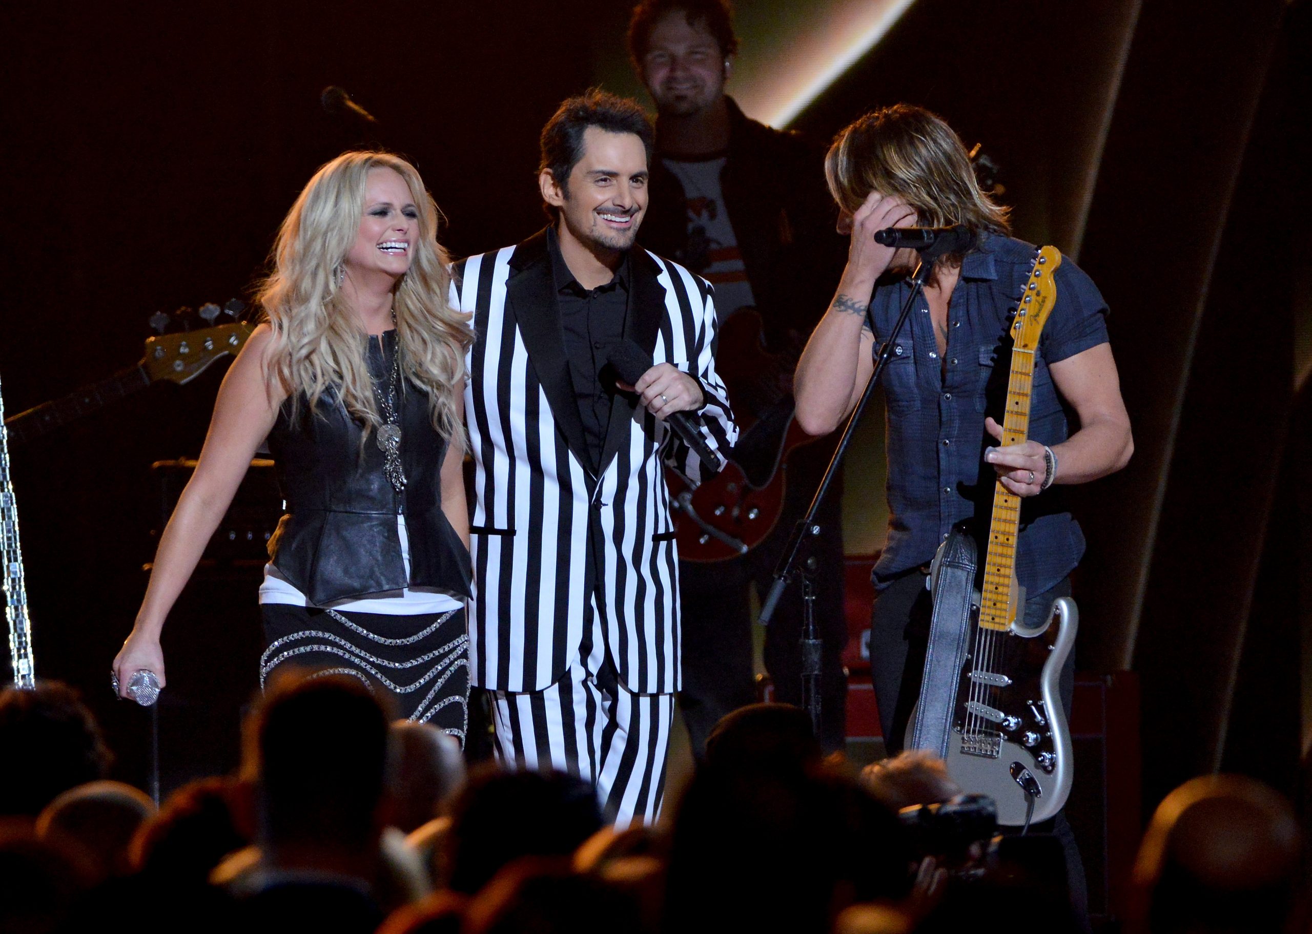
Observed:
[[[966,664],[971,602],[975,596],[977,550],[974,535],[954,529],[939,546],[933,579],[934,610],[925,648],[925,674],[912,724],[912,749],[929,749],[947,758],[956,689]]]

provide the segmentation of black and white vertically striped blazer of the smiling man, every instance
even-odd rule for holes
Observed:
[[[727,453],[737,428],[715,375],[711,286],[642,249],[631,269],[625,337],[701,380],[703,436]],[[625,686],[678,690],[678,555],[663,460],[698,480],[697,455],[630,394],[617,394],[593,475],[546,231],[462,260],[451,293],[476,332],[464,392],[476,493],[474,683],[548,687],[601,611]]]

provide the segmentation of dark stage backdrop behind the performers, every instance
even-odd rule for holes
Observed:
[[[739,5],[766,31],[804,30],[827,7]],[[239,0],[7,12],[8,412],[134,362],[154,311],[248,294],[310,173],[362,139],[413,159],[454,254],[531,232],[538,131],[592,83],[627,89],[626,9],[415,4],[383,21],[358,4]],[[1123,474],[1080,491],[1080,665],[1140,680],[1147,807],[1220,767],[1300,790],[1309,26],[1308,3],[1281,0],[920,0],[795,122],[827,138],[899,100],[938,110],[1001,164],[1018,235],[1061,247],[1109,299],[1138,450]],[[745,59],[753,35],[743,41]],[[374,113],[377,130],[324,114],[328,84]],[[112,700],[109,661],[160,521],[150,466],[198,453],[220,370],[12,453],[38,673],[84,690],[119,774],[138,783],[146,720]],[[255,687],[256,580],[199,575],[165,630],[161,721],[177,777],[235,761],[236,720],[206,698]]]

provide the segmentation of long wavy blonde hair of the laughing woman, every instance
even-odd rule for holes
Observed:
[[[335,390],[352,417],[363,422],[366,436],[382,425],[366,341],[338,289],[338,269],[365,214],[371,169],[391,169],[404,178],[419,211],[411,265],[392,293],[401,375],[428,392],[433,426],[463,453],[455,399],[474,333],[468,316],[447,303],[450,258],[437,241],[437,203],[415,167],[391,153],[344,152],[327,163],[282,222],[273,273],[257,295],[273,328],[269,379],[281,384],[293,407],[304,399],[312,411],[325,391]]]

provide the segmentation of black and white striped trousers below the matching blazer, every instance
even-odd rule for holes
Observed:
[[[492,691],[497,758],[518,769],[556,769],[592,782],[607,821],[652,824],[665,794],[673,694],[635,694],[619,683],[593,626],[565,676],[541,691]]]

